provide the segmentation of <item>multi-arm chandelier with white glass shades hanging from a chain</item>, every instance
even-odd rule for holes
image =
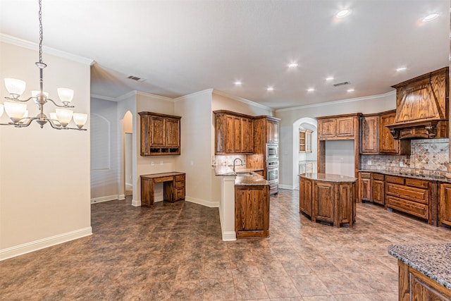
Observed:
[[[0,104],[0,117],[4,111],[11,119],[9,123],[0,123],[0,125],[13,125],[16,128],[25,128],[36,121],[41,128],[44,124],[49,123],[52,128],[56,130],[86,130],[82,128],[87,121],[87,114],[85,113],[73,113],[69,108],[70,102],[73,99],[73,90],[68,88],[58,88],[58,97],[61,99],[61,104],[56,104],[54,100],[49,98],[49,94],[44,92],[44,80],[42,78],[42,70],[47,67],[45,63],[42,63],[42,4],[39,0],[39,62],[36,63],[39,68],[39,91],[32,91],[31,97],[28,99],[19,99],[20,95],[25,91],[25,82],[23,80],[16,80],[14,78],[5,78],[6,90],[8,90],[9,97],[5,97],[10,102],[4,102]],[[33,100],[39,109],[39,113],[35,117],[28,117],[27,105],[24,104],[29,100]],[[49,113],[49,117],[44,114],[44,104],[52,102],[58,109],[55,112]],[[70,128],[68,124],[73,119],[77,128]]]

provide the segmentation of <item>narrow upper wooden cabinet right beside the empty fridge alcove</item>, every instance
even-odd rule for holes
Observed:
[[[379,154],[379,116],[360,118],[360,154]]]

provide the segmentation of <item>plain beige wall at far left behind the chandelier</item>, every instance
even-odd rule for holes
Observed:
[[[23,97],[39,90],[36,50],[0,42],[0,96],[3,78],[27,82]],[[89,114],[89,62],[43,54],[44,90],[58,99],[57,87],[75,90],[75,111]],[[30,116],[37,106],[27,103]],[[44,113],[54,111],[53,104]],[[7,122],[4,114],[1,123]],[[86,128],[89,129],[89,121]],[[89,202],[89,130],[0,127],[0,259],[92,233]]]

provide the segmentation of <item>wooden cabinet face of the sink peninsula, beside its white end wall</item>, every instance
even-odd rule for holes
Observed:
[[[235,185],[237,238],[269,236],[269,185]]]

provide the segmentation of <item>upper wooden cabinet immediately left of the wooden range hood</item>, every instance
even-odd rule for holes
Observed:
[[[379,153],[410,154],[410,140],[396,140],[385,125],[395,123],[396,111],[381,114],[379,123]]]

